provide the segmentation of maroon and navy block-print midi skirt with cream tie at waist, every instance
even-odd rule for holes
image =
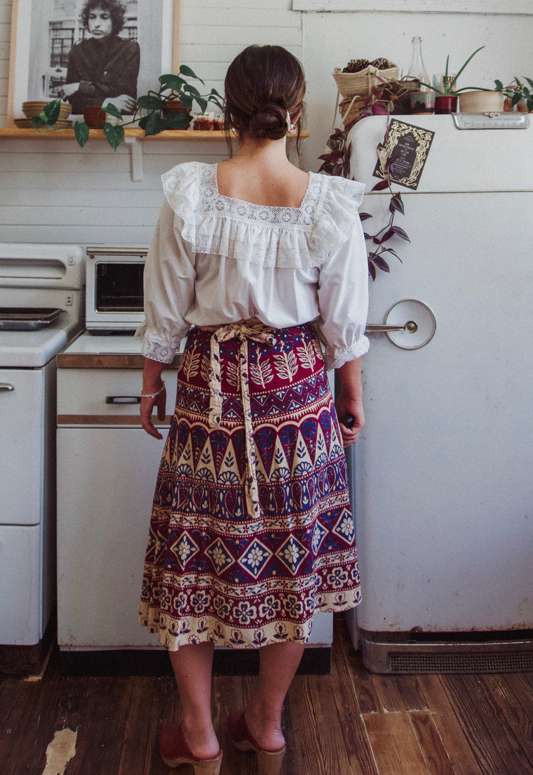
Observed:
[[[346,459],[311,324],[192,329],[156,482],[139,621],[174,651],[306,642],[359,603]]]

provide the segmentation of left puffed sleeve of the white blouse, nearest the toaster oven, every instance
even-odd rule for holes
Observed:
[[[144,267],[144,322],[135,332],[146,358],[170,363],[191,325],[185,319],[194,299],[194,252],[184,223],[163,202]]]

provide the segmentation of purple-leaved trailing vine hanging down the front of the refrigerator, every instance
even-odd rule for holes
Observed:
[[[396,84],[400,84],[399,87]],[[322,159],[322,166],[319,172],[325,172],[328,175],[335,175],[339,177],[350,177],[349,174],[349,160],[351,145],[348,142],[348,135],[352,126],[356,122],[365,118],[368,115],[390,115],[394,110],[394,102],[404,96],[402,91],[401,82],[397,81],[391,86],[390,81],[387,84],[378,84],[372,88],[372,91],[363,105],[363,109],[359,112],[356,119],[345,124],[342,129],[335,129],[332,135],[328,139],[327,153],[323,153],[320,159]],[[377,277],[377,270],[382,272],[390,272],[390,266],[387,258],[394,256],[401,262],[400,256],[397,254],[393,246],[390,246],[390,240],[395,238],[404,239],[407,242],[411,242],[407,233],[400,226],[394,223],[394,219],[398,213],[404,215],[404,202],[401,198],[399,191],[393,191],[391,187],[391,176],[394,172],[394,160],[397,156],[397,151],[393,151],[390,155],[387,155],[386,142],[387,133],[389,131],[389,123],[387,122],[387,130],[383,137],[383,143],[379,143],[377,146],[377,157],[380,161],[380,171],[383,175],[383,180],[379,181],[372,191],[383,191],[388,188],[390,191],[389,202],[389,219],[385,226],[374,234],[364,232],[365,239],[370,243],[368,250],[368,271],[370,277],[373,280]],[[359,217],[361,221],[366,221],[372,218],[369,212],[360,212]]]

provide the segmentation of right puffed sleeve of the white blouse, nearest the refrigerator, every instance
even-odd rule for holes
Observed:
[[[344,178],[333,179],[332,188],[328,208],[334,230],[332,250],[319,267],[318,329],[325,342],[326,368],[337,369],[364,355],[370,346],[365,336],[368,260],[357,212],[364,188]]]

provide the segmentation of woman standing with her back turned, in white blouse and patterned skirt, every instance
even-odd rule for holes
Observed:
[[[163,759],[193,763],[195,775],[217,773],[222,759],[210,714],[215,643],[260,648],[256,694],[230,716],[229,734],[256,751],[260,772],[275,772],[281,708],[313,613],[359,602],[342,443],[364,425],[363,186],[287,159],[304,91],[301,65],[283,48],[236,57],[225,128],[238,134],[238,153],[163,175],[146,260],[140,412],[156,439],[161,372],[188,339],[140,622],[159,632],[180,690],[181,725],[163,728]],[[315,329],[342,383],[340,432]]]

